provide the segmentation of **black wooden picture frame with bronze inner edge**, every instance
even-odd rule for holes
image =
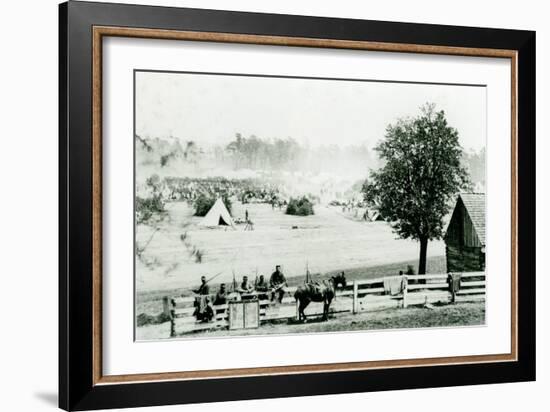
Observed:
[[[535,33],[68,2],[59,8],[59,406],[218,402],[535,379]],[[509,354],[102,374],[102,39],[483,56],[512,64]]]

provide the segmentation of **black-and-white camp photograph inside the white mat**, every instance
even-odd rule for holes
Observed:
[[[135,70],[135,339],[485,325],[486,103]]]

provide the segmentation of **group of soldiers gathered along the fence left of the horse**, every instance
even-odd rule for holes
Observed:
[[[211,300],[210,286],[206,277],[202,276],[201,285],[193,290],[197,295],[194,315],[197,320],[208,322],[214,317],[212,305],[224,305],[232,300],[251,300],[257,298],[258,295],[270,296],[271,301],[277,300],[277,302],[281,303],[285,295],[286,286],[285,275],[281,271],[281,266],[277,265],[269,278],[269,282],[267,282],[264,275],[260,275],[252,284],[248,276],[243,276],[240,285],[235,287],[231,292],[227,290],[225,283],[221,283],[214,295],[214,299]]]

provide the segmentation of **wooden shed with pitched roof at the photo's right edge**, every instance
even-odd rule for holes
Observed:
[[[445,245],[448,272],[485,270],[485,194],[458,196]]]

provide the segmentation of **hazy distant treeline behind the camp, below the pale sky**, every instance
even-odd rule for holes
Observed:
[[[338,141],[338,136],[334,137]],[[225,168],[228,170],[263,170],[275,172],[334,173],[366,175],[377,169],[380,161],[366,144],[309,146],[289,137],[244,137],[237,133],[226,145],[201,147],[193,140],[143,138],[136,135],[139,165],[160,167]],[[464,151],[462,161],[471,180],[485,184],[485,149]],[[185,169],[188,170],[188,169]],[[218,170],[221,172],[222,170]],[[172,172],[173,173],[173,172]],[[182,173],[185,174],[185,173]]]

